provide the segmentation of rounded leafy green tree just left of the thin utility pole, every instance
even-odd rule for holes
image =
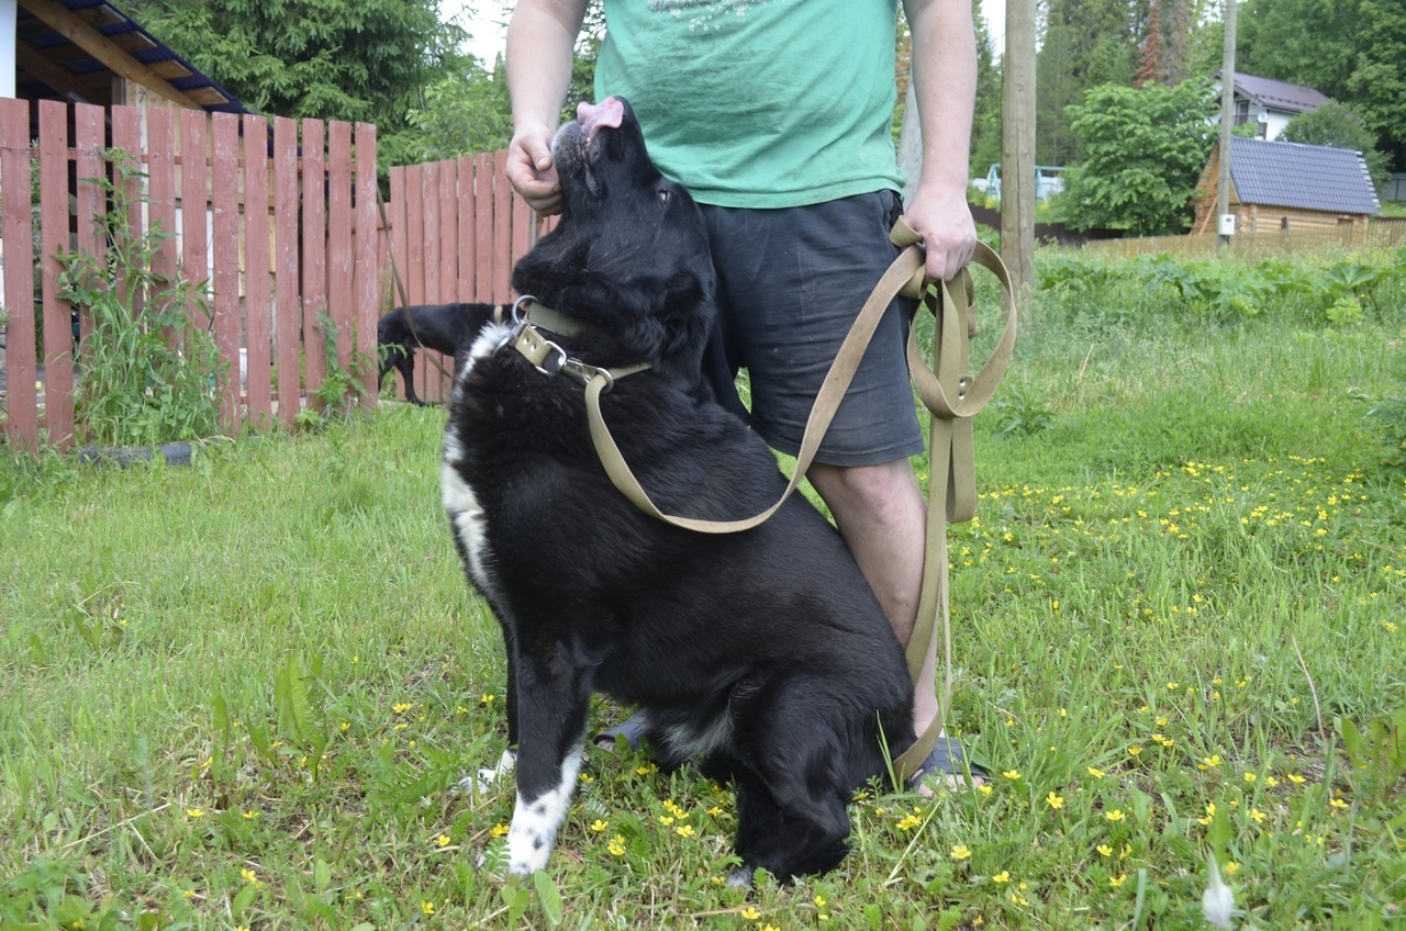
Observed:
[[[1085,153],[1070,173],[1070,226],[1122,226],[1135,236],[1184,232],[1215,128],[1204,80],[1142,89],[1101,84],[1070,107]]]

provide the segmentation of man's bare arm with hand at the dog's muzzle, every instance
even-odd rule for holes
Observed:
[[[571,56],[588,0],[520,0],[508,23],[508,96],[513,141],[508,183],[538,214],[561,210],[551,136],[571,86]]]

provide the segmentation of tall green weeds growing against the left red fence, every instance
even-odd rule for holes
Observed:
[[[139,208],[128,181],[136,160],[104,150],[114,177],[84,179],[101,187],[107,212],[96,218],[103,255],[60,253],[59,297],[91,319],[75,387],[79,440],[103,446],[155,446],[218,432],[219,383],[226,373],[215,339],[195,319],[211,319],[204,285],[153,269],[173,233],[153,224],[134,235]]]

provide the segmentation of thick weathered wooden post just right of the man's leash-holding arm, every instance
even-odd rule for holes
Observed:
[[[1035,0],[1005,0],[1001,73],[1001,257],[1028,319],[1035,283]]]

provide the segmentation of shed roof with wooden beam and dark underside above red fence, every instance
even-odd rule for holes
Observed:
[[[183,107],[249,113],[107,0],[18,0],[15,90],[31,100],[112,104],[125,77]]]

